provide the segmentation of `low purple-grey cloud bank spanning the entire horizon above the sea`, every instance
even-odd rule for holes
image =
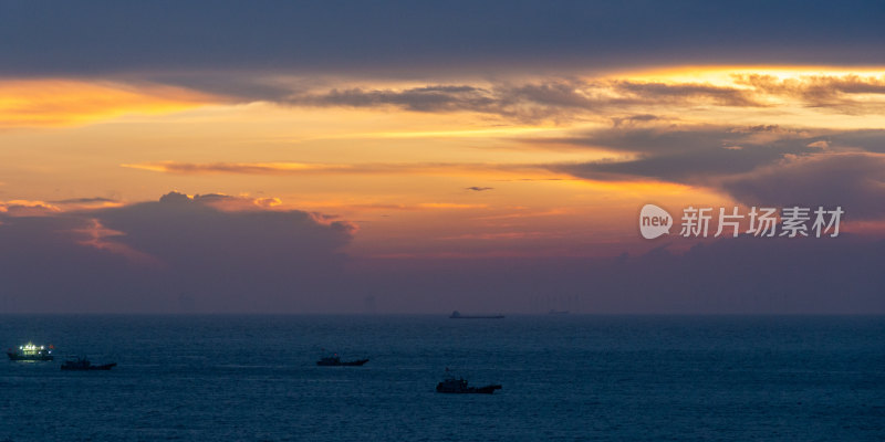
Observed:
[[[360,313],[368,295],[385,313],[885,312],[885,244],[850,233],[591,260],[354,261],[340,254],[346,222],[219,194],[0,221],[3,312]]]

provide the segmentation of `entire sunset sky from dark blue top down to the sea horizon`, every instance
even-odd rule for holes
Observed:
[[[882,313],[883,19],[2,1],[0,311]],[[845,214],[649,241],[646,203]]]

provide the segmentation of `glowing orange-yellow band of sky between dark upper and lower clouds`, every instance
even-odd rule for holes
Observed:
[[[527,250],[555,255],[563,232],[585,241],[586,254],[598,255],[593,244],[613,238],[621,238],[615,242],[624,248],[637,246],[635,229],[624,220],[643,201],[671,207],[740,202],[720,183],[741,176],[736,172],[697,170],[698,176],[675,179],[618,172],[620,164],[662,154],[610,138],[679,134],[694,143],[693,134],[718,130],[719,146],[694,151],[741,154],[747,143],[803,138],[820,140],[809,141],[811,150],[802,155],[854,151],[856,146],[836,146],[827,137],[881,126],[884,72],[710,65],[634,69],[580,80],[350,80],[299,96],[282,94],[279,103],[146,82],[6,78],[0,80],[0,91],[7,92],[0,120],[7,130],[0,138],[8,146],[4,176],[12,179],[0,189],[14,197],[6,206],[101,197],[98,206],[119,207],[176,189],[262,196],[281,201],[278,209],[369,223],[348,246],[366,256],[459,254],[450,245],[459,240],[487,244],[478,255],[519,249],[523,241],[530,244]],[[10,117],[22,109],[31,110]],[[825,126],[813,124],[824,120]],[[24,147],[34,145],[40,146],[37,152]],[[73,164],[66,155],[71,150],[79,152]],[[790,161],[791,155],[779,155],[780,161]],[[759,167],[767,164],[771,159]],[[600,170],[576,171],[582,168]],[[95,186],[86,177],[113,186]],[[58,179],[75,185],[59,194],[51,190],[58,189]],[[31,207],[58,213],[74,208]],[[600,214],[600,208],[608,213]],[[494,219],[522,221],[490,223]],[[582,223],[586,232],[577,228]],[[393,249],[381,245],[394,243]],[[616,252],[606,249],[606,254]]]

